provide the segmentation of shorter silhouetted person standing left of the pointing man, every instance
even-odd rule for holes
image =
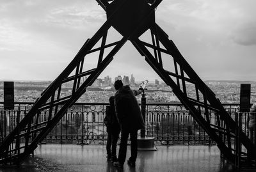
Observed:
[[[111,162],[116,162],[116,144],[120,133],[120,125],[116,118],[114,97],[109,97],[109,106],[106,109],[106,117],[104,123],[107,126],[108,139],[107,139],[107,158]]]

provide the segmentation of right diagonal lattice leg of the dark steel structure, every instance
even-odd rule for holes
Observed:
[[[132,40],[132,44],[142,56],[145,56],[147,63],[156,71],[161,79],[172,88],[173,93],[175,93],[186,109],[189,110],[189,113],[191,113],[191,116],[193,116],[197,123],[200,124],[205,132],[217,143],[221,153],[223,153],[227,159],[234,162],[237,154],[235,148],[232,148],[231,140],[234,140],[236,134],[239,134],[241,143],[246,148],[247,152],[252,153],[251,156],[256,157],[255,145],[253,145],[246,134],[238,128],[237,123],[230,117],[227,111],[225,111],[220,100],[215,97],[211,89],[198,77],[186,59],[180,54],[172,40],[169,40],[168,35],[164,33],[163,29],[155,24],[150,27],[150,31],[152,44],[143,42],[140,39]],[[160,43],[162,47],[160,47]],[[153,49],[154,53],[152,54],[148,49]],[[175,72],[164,69],[163,54],[167,54],[173,58]],[[172,77],[175,81],[173,81]],[[195,86],[195,98],[188,96],[186,83]],[[200,93],[202,98],[199,97]],[[202,115],[202,111],[204,111],[205,116]],[[214,113],[217,116],[216,124],[211,122],[210,113]],[[225,141],[225,139],[227,141]]]

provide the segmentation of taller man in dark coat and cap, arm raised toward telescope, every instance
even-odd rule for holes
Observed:
[[[120,80],[115,82],[115,90],[117,90],[114,98],[115,111],[121,127],[121,142],[118,161],[114,162],[113,165],[118,168],[124,168],[127,152],[127,140],[130,134],[131,157],[127,160],[127,164],[134,167],[138,151],[138,130],[145,127],[141,110],[135,97],[136,95],[139,95],[141,91],[131,90],[129,86],[124,86],[123,82]]]

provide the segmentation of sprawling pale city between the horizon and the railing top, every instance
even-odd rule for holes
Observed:
[[[15,82],[14,83],[14,98],[15,102],[35,102],[40,97],[41,93],[51,82]],[[99,82],[98,82],[99,84]],[[215,93],[216,97],[222,103],[239,103],[241,82],[207,82],[209,88]],[[251,102],[256,100],[256,82],[252,82]],[[3,88],[3,82],[0,82]],[[67,96],[72,92],[72,83],[63,85],[62,96]],[[140,83],[136,83],[132,88],[140,88]],[[163,83],[151,82],[147,85],[146,97],[148,102],[179,102],[178,98],[172,92],[172,89]],[[108,102],[109,97],[115,94],[113,84],[111,87],[104,84],[92,85],[87,88],[87,91],[82,95],[77,102]],[[195,97],[196,93],[193,86],[188,86],[188,95]],[[0,89],[0,102],[4,101],[4,90]],[[138,97],[140,102],[140,97]]]

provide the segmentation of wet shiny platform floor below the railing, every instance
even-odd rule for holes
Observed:
[[[128,148],[127,157],[130,152]],[[20,168],[0,171],[232,171],[223,164],[217,146],[157,146],[157,151],[139,151],[136,167],[127,162],[119,170],[106,160],[105,145],[39,145],[35,157]]]

